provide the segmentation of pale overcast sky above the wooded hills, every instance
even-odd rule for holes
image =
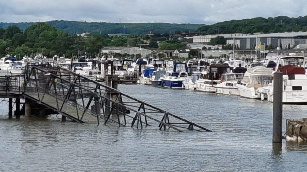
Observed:
[[[307,15],[305,0],[0,0],[0,22],[205,23]]]

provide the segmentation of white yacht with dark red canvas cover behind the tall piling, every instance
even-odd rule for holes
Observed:
[[[282,102],[284,104],[307,104],[307,76],[305,75],[306,57],[284,56],[279,57],[274,72],[280,70],[283,73],[282,79]],[[273,76],[274,74],[272,74]],[[273,102],[274,80],[263,87],[268,101]]]

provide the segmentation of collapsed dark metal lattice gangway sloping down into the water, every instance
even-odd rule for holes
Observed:
[[[116,124],[141,129],[144,126],[157,126],[160,130],[174,129],[179,132],[183,132],[182,129],[211,131],[60,67],[27,65],[24,90],[25,97],[77,122]]]

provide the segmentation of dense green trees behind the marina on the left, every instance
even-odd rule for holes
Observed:
[[[0,28],[0,55],[34,56],[42,53],[48,57],[53,55],[88,55],[95,56],[104,46],[136,46],[143,44],[138,36],[108,36],[106,34],[90,34],[81,37],[69,35],[62,30],[37,23],[29,26],[25,31],[12,25],[6,29]]]

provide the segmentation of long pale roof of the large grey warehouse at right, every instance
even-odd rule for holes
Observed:
[[[307,32],[282,32],[272,34],[256,34],[256,35],[244,35],[244,36],[227,36],[225,38],[271,38],[271,37],[298,37],[307,36]]]

